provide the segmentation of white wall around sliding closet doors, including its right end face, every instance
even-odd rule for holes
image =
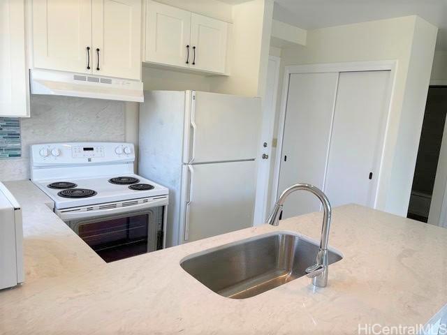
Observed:
[[[408,207],[436,34],[437,28],[419,17],[398,17],[307,31],[306,46],[281,52],[281,78],[288,65],[397,60],[378,208],[402,216]],[[277,117],[281,98],[278,101]]]

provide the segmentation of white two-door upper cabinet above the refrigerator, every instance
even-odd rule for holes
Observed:
[[[225,73],[228,23],[147,0],[148,63]]]

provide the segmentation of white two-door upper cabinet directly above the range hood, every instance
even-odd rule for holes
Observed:
[[[140,80],[141,0],[33,0],[34,68]]]

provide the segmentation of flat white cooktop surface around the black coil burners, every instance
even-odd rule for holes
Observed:
[[[110,179],[116,177],[130,177],[135,178],[138,182],[133,184],[112,184],[110,183]],[[69,184],[72,186],[71,188],[50,188],[48,185],[53,183],[61,183],[68,182],[75,184]],[[149,198],[156,197],[159,195],[168,195],[168,188],[161,186],[159,184],[154,183],[154,181],[150,181],[145,179],[137,174],[126,174],[126,175],[112,175],[112,176],[104,176],[104,177],[93,177],[93,178],[82,178],[82,179],[70,179],[64,178],[60,180],[43,180],[36,181],[34,180],[34,184],[36,184],[43,192],[45,192],[53,201],[54,207],[56,209],[66,209],[71,207],[79,207],[86,206],[89,204],[102,204],[106,202],[117,202],[123,200],[133,200],[138,198]],[[141,184],[148,184],[154,186],[150,189],[145,189],[148,187],[138,186]],[[133,188],[129,186],[134,186]],[[135,187],[136,186],[136,187]],[[70,193],[75,196],[81,195],[82,192],[78,192],[76,190],[91,190],[96,192],[92,194],[91,192],[86,192],[88,195],[85,198],[66,198],[66,196],[70,195]],[[70,191],[68,191],[70,190]],[[61,192],[66,194],[61,194]]]

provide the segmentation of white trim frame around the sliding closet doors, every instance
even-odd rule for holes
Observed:
[[[386,147],[387,137],[388,137],[388,126],[390,122],[390,110],[393,100],[393,92],[395,88],[395,77],[396,77],[397,61],[354,61],[346,63],[330,63],[330,64],[309,64],[309,65],[293,65],[286,66],[284,70],[284,83],[281,96],[281,114],[279,115],[278,123],[278,144],[277,144],[277,155],[274,163],[274,174],[273,174],[273,186],[272,186],[272,204],[276,202],[278,198],[278,188],[279,188],[279,172],[281,171],[281,158],[282,158],[282,147],[284,140],[284,128],[286,122],[286,109],[287,109],[287,98],[288,98],[288,87],[290,82],[290,76],[292,74],[300,73],[330,73],[330,72],[360,72],[360,71],[381,71],[390,70],[390,87],[388,91],[388,111],[386,113],[386,126],[385,126],[385,138],[383,140],[383,147],[381,153],[381,162],[379,165],[379,173],[377,174],[377,191],[376,197],[374,199],[374,208],[376,208],[379,200],[379,188],[382,187],[381,181],[383,177],[383,152]]]

